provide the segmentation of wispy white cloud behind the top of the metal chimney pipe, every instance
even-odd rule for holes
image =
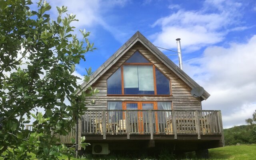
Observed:
[[[244,26],[235,26],[232,29],[232,25],[236,25],[240,17],[240,3],[206,0],[203,6],[200,10],[179,9],[156,20],[152,27],[160,26],[161,31],[151,36],[154,44],[164,48],[176,48],[174,40],[181,38],[185,50],[194,51],[221,42],[230,31],[247,29]]]

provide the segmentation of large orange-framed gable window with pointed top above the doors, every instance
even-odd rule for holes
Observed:
[[[108,95],[170,95],[170,80],[136,51],[107,80]]]

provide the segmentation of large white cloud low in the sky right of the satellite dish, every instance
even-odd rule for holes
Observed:
[[[256,109],[256,35],[245,44],[212,46],[201,58],[185,61],[184,70],[211,96],[203,109],[222,110],[224,127],[245,124]],[[238,116],[239,115],[239,116]]]

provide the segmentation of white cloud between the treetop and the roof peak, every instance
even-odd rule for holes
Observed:
[[[123,41],[127,38],[127,32],[122,32],[116,26],[112,26],[107,20],[107,13],[115,7],[124,7],[128,0],[54,0],[50,2],[52,6],[51,12],[54,17],[57,17],[58,12],[56,6],[67,6],[68,13],[76,15],[79,21],[72,22],[76,27],[75,33],[78,38],[82,38],[78,29],[93,30],[97,25],[102,26],[105,30],[110,32],[118,41]],[[93,33],[90,35],[93,36]]]

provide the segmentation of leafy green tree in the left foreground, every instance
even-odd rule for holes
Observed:
[[[80,30],[82,41],[73,34],[70,24],[77,20],[73,14],[63,16],[66,7],[57,7],[58,17],[52,20],[46,1],[40,0],[36,11],[30,11],[30,4],[0,0],[0,157],[30,159],[32,152],[38,159],[58,159],[68,148],[56,145],[55,134],[68,134],[76,115],[86,110],[86,98],[98,92],[89,87],[75,94],[74,88],[82,88],[72,74],[94,48],[89,32]],[[90,69],[87,74],[86,82]],[[31,116],[34,129],[25,130]]]

